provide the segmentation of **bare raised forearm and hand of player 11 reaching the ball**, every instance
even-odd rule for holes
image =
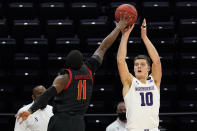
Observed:
[[[131,21],[129,19],[125,19],[127,13],[124,13],[124,16],[120,12],[120,21],[116,23],[115,29],[102,41],[100,46],[97,48],[97,50],[94,52],[93,56],[98,56],[102,62],[103,57],[105,55],[105,52],[111,47],[111,45],[114,43],[116,38],[118,37],[118,34],[122,29],[124,29],[128,23]],[[124,18],[123,18],[123,17]]]

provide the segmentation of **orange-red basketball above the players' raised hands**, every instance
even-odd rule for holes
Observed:
[[[135,6],[130,5],[130,4],[122,4],[118,6],[115,11],[115,18],[117,22],[120,21],[120,12],[122,13],[122,17],[124,16],[124,12],[127,12],[126,18],[131,16],[132,21],[128,25],[133,25],[133,23],[136,22],[138,13],[137,13]]]

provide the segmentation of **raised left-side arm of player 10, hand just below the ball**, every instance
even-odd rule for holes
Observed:
[[[134,25],[128,30],[122,31],[122,38],[117,54],[117,64],[121,82],[123,84],[123,96],[128,92],[130,85],[133,80],[133,75],[129,72],[126,55],[127,55],[127,42],[131,31],[133,30]]]

